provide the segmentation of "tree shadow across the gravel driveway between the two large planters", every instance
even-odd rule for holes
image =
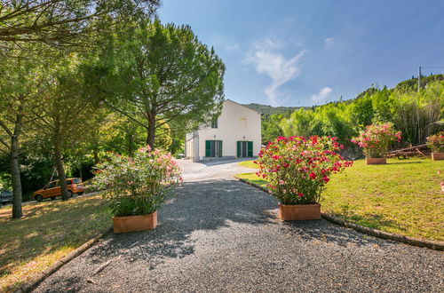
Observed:
[[[280,235],[294,241],[329,242],[342,247],[391,245],[325,220],[281,222],[276,219],[277,202],[271,195],[237,180],[184,183],[178,193],[159,210],[159,226],[155,230],[111,234],[106,245],[91,251],[91,261],[101,263],[122,255],[130,262],[146,259],[150,269],[154,269],[165,257],[194,254],[194,242],[198,241],[191,237],[194,232],[236,224],[248,224],[250,229],[271,225],[279,229]]]

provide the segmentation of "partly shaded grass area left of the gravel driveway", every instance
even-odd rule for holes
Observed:
[[[94,235],[111,217],[99,195],[23,206],[24,217],[0,209],[0,292],[13,291]]]

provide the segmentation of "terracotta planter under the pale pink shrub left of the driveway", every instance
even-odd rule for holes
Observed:
[[[157,226],[157,211],[148,215],[113,217],[114,233],[151,230]]]

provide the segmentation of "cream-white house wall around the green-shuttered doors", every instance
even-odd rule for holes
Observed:
[[[222,156],[236,157],[237,141],[253,141],[253,155],[261,147],[261,115],[231,100],[224,101],[218,128],[199,130],[199,159],[205,156],[205,140],[222,140]]]

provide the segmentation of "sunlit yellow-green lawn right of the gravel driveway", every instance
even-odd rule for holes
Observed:
[[[444,241],[444,162],[388,159],[386,165],[363,160],[335,174],[321,196],[322,210],[348,221],[395,234]],[[242,166],[256,168],[253,162]],[[443,170],[443,175],[439,174]],[[254,173],[239,174],[266,186]]]

